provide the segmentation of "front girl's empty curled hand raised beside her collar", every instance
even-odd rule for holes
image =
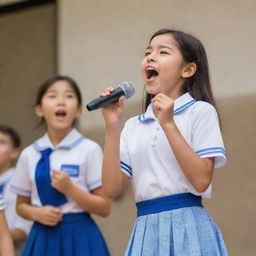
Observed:
[[[173,124],[174,100],[163,93],[157,94],[152,99],[153,111],[162,128],[165,125]]]

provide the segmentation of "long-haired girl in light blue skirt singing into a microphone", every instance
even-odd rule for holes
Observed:
[[[157,31],[141,73],[144,114],[121,132],[124,97],[102,110],[103,191],[115,197],[130,178],[137,202],[126,255],[227,255],[201,203],[211,195],[214,167],[226,161],[204,47],[181,31]]]

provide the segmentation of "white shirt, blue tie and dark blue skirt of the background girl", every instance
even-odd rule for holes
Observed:
[[[101,186],[101,164],[101,148],[76,129],[56,147],[45,134],[23,150],[11,189],[30,197],[34,206],[53,205],[64,214],[56,226],[34,223],[24,256],[109,255],[104,238],[90,214],[72,198],[48,184],[49,168],[58,169],[66,172],[74,184],[89,193]],[[48,171],[45,171],[46,167]]]

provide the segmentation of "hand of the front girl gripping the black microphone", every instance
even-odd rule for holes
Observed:
[[[113,87],[107,88],[100,97],[108,96],[114,90]],[[106,125],[120,125],[123,116],[124,99],[122,96],[119,98],[118,102],[112,103],[106,107],[102,108],[102,115],[104,117]]]

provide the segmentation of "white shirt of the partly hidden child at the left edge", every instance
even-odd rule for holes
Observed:
[[[5,201],[5,216],[9,229],[20,229],[26,234],[29,233],[32,222],[21,218],[16,212],[16,193],[10,190],[11,179],[14,168],[7,170],[0,175],[0,186],[3,186],[3,196]]]

